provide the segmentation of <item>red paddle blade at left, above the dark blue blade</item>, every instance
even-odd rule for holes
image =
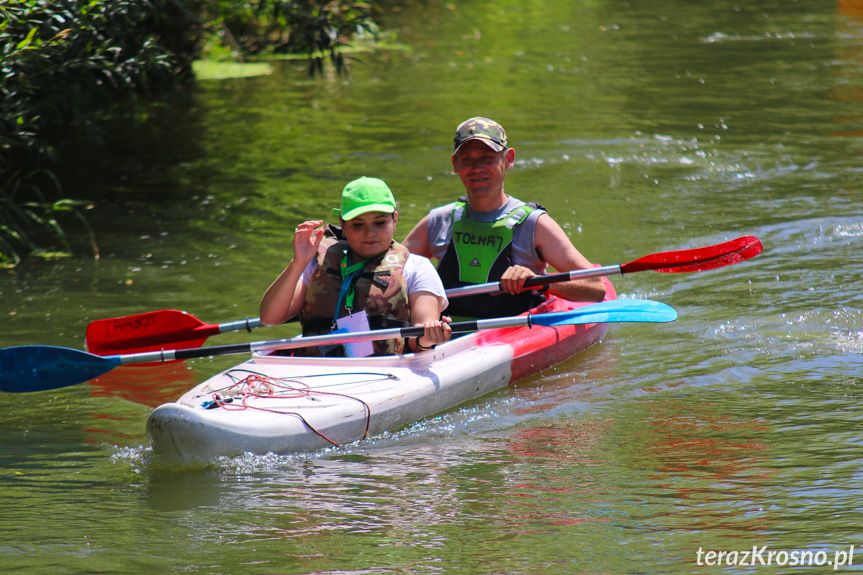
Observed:
[[[219,333],[184,311],[162,310],[100,319],[87,326],[87,351],[95,355],[122,355],[160,349],[201,347]]]

